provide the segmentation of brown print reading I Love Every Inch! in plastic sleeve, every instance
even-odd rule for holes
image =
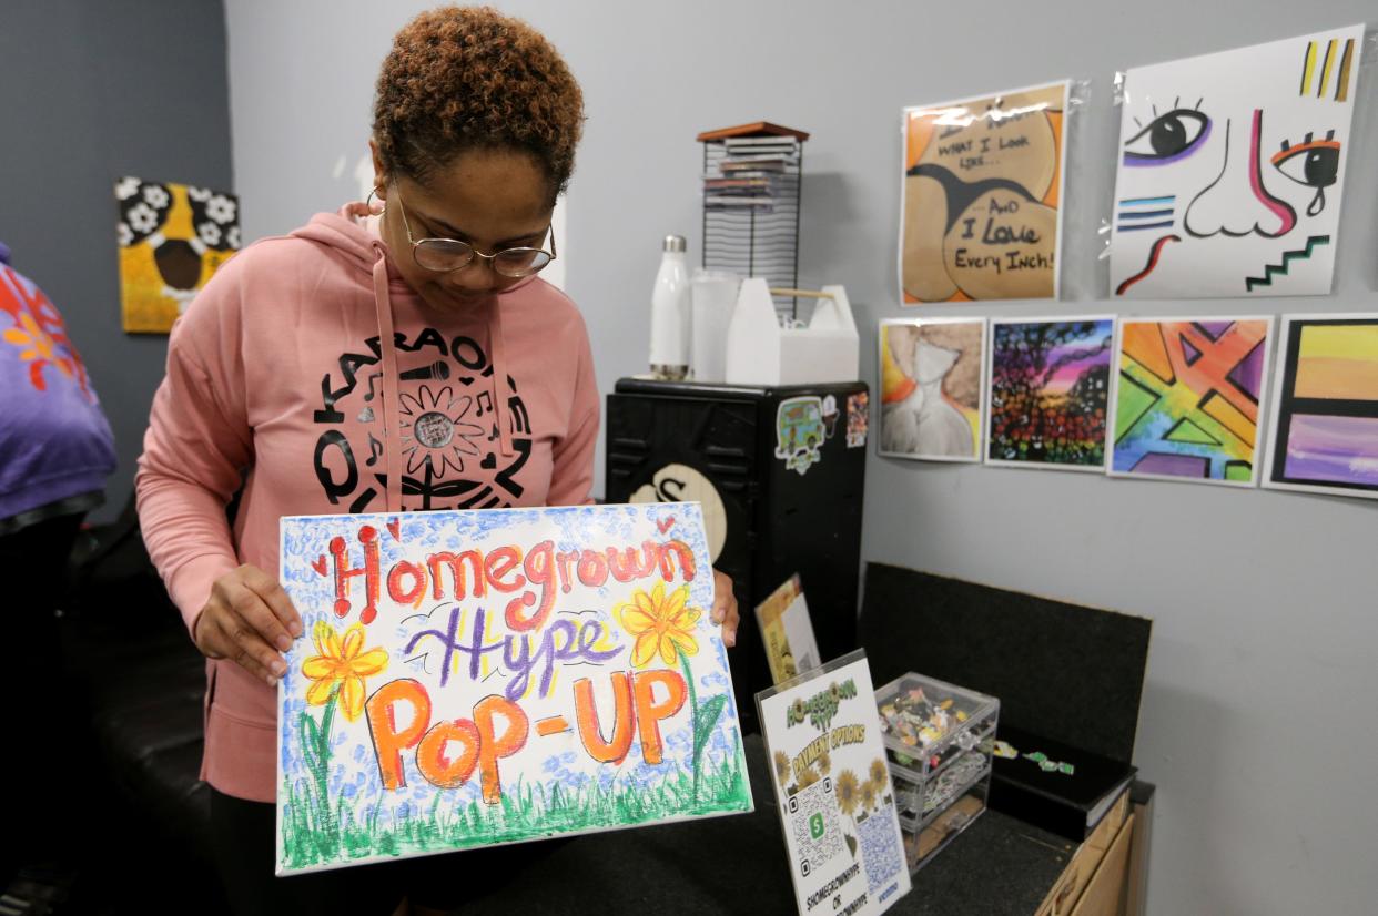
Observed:
[[[1068,87],[905,109],[905,304],[1057,298]]]

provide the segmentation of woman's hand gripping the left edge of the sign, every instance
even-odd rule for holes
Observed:
[[[282,653],[302,635],[302,617],[276,579],[245,563],[215,580],[192,628],[207,658],[229,658],[277,686],[287,674]]]

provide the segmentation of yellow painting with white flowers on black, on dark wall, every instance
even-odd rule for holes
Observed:
[[[121,178],[120,304],[130,333],[167,333],[240,247],[240,201],[194,185]]]

